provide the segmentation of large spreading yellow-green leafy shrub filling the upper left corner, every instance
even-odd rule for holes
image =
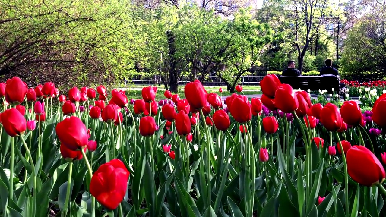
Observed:
[[[141,44],[131,11],[115,0],[3,2],[0,75],[68,86],[128,77]]]

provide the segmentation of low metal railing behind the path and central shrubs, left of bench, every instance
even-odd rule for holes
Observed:
[[[265,76],[265,75],[264,75]],[[240,85],[260,85],[260,81],[264,78],[264,76],[241,76],[239,78]],[[198,78],[200,79],[200,78]],[[162,80],[159,75],[153,75],[149,77],[137,76],[133,78],[133,80],[124,80],[125,85],[127,83],[134,83],[136,85],[162,85]],[[178,84],[186,84],[189,83],[190,79],[188,76],[182,76]],[[225,83],[218,76],[206,76],[203,81],[203,85],[205,86],[223,86]]]

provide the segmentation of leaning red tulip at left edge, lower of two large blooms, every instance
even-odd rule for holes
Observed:
[[[27,129],[25,117],[16,109],[10,108],[0,115],[5,132],[11,137],[20,136]]]

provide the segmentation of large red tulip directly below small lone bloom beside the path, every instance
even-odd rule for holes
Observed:
[[[251,120],[251,106],[246,96],[238,95],[229,108],[232,117],[239,123],[245,123]]]

